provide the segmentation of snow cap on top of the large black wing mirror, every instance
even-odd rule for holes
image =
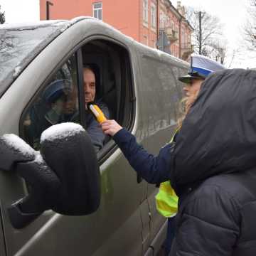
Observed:
[[[41,143],[44,141],[53,141],[55,139],[65,139],[66,137],[73,136],[80,132],[85,132],[80,124],[73,122],[65,122],[62,124],[55,124],[46,129],[41,134]]]

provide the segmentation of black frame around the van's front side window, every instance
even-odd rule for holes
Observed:
[[[70,50],[70,52],[66,53],[63,55],[62,60],[55,65],[55,68],[48,74],[46,75],[46,80],[42,82],[41,86],[38,88],[36,93],[31,97],[31,99],[28,101],[26,104],[26,107],[23,108],[23,111],[21,113],[21,116],[18,120],[18,134],[19,136],[24,139],[24,132],[23,132],[23,121],[26,117],[27,111],[31,105],[36,102],[36,99],[38,98],[39,95],[43,92],[43,90],[47,87],[50,79],[55,75],[55,73],[58,72],[58,70],[67,62],[67,60],[75,54],[76,57],[76,63],[77,63],[77,69],[78,69],[78,100],[79,100],[79,112],[80,112],[80,124],[82,127],[86,128],[86,122],[85,118],[86,113],[85,113],[85,101],[84,101],[84,93],[83,93],[83,73],[82,73],[82,46],[85,46],[87,43],[90,43],[91,41],[96,41],[96,40],[102,40],[102,41],[109,41],[111,43],[116,44],[119,46],[119,48],[122,48],[125,50],[125,54],[127,54],[127,57],[122,58],[123,61],[122,65],[125,65],[125,68],[122,68],[122,70],[125,70],[125,72],[121,73],[122,77],[122,90],[129,90],[129,95],[125,95],[125,99],[128,103],[131,103],[129,106],[129,117],[125,117],[128,120],[125,122],[124,127],[132,131],[132,128],[134,127],[134,122],[135,122],[135,116],[136,116],[136,96],[135,96],[135,89],[134,89],[134,73],[132,71],[132,53],[129,50],[129,48],[124,45],[122,42],[114,40],[114,38],[109,38],[107,36],[90,36],[88,38],[85,38],[83,41],[81,41],[77,46],[73,48],[73,50]],[[121,57],[120,57],[121,59]],[[124,74],[125,73],[125,74]],[[127,80],[129,80],[129,86],[127,86]],[[123,88],[125,87],[125,88]],[[122,94],[122,92],[121,92]],[[121,104],[119,105],[119,108],[121,109],[122,106]],[[125,106],[124,106],[125,108]],[[122,110],[124,112],[124,110]],[[124,122],[124,119],[123,119]],[[123,123],[122,123],[123,124]],[[26,142],[26,140],[25,140]],[[106,145],[103,146],[103,148],[97,152],[97,159],[99,162],[99,165],[101,165],[103,162],[105,162],[113,153],[114,151],[117,150],[117,145],[114,143],[113,140],[110,140]]]

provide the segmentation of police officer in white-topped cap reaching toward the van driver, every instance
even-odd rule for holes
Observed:
[[[216,63],[214,60],[201,55],[191,56],[191,67],[188,75],[178,78],[178,80],[185,83],[183,87],[186,95],[184,117],[196,100],[203,80],[213,71],[223,69],[223,65]],[[174,238],[173,217],[178,210],[178,197],[170,186],[170,151],[173,139],[171,143],[160,149],[158,156],[153,156],[137,144],[135,137],[114,120],[107,120],[102,124],[102,129],[106,134],[110,134],[113,137],[129,164],[137,171],[139,176],[142,176],[149,183],[161,183],[159,193],[156,196],[156,208],[161,215],[169,218],[167,238],[164,243],[165,255],[169,255],[171,241]]]

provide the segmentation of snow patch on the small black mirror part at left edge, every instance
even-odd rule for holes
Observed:
[[[15,151],[21,152],[25,156],[34,157],[36,155],[36,151],[15,134],[4,134],[1,139]]]

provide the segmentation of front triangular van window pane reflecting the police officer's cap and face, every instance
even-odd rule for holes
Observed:
[[[39,149],[41,133],[62,122],[80,122],[76,58],[73,55],[36,96],[21,120],[23,137]]]

